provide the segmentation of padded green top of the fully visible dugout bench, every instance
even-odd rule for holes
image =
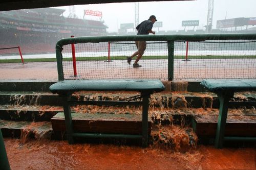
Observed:
[[[138,91],[159,92],[165,89],[160,80],[148,79],[90,79],[64,80],[50,86],[53,93],[74,91]]]

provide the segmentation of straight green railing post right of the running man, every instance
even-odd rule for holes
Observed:
[[[174,41],[167,41],[168,48],[168,80],[174,79]]]

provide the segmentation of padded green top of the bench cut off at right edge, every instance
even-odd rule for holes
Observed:
[[[256,80],[254,79],[203,80],[200,84],[214,93],[256,90]]]

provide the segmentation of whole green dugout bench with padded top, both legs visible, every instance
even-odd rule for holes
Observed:
[[[70,144],[74,142],[74,137],[133,138],[142,139],[142,147],[147,147],[148,145],[148,99],[150,98],[150,95],[152,93],[163,91],[164,89],[165,87],[160,80],[145,79],[63,80],[50,86],[50,91],[53,93],[58,93],[58,95],[62,98],[67,138]],[[123,101],[72,101],[72,93],[76,91],[136,91],[140,92],[140,95],[127,98]],[[138,99],[142,100],[137,101]],[[74,132],[72,125],[72,114],[70,109],[71,105],[142,106],[142,135]]]

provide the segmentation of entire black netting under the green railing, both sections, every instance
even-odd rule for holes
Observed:
[[[255,40],[186,41],[174,44],[174,80],[186,79],[255,79]],[[79,79],[168,79],[167,41],[147,41],[142,67],[133,68],[126,61],[137,51],[135,42],[75,44],[77,78]],[[110,53],[110,55],[109,55]],[[71,44],[64,45],[63,73],[74,77]],[[109,56],[109,57],[108,57]]]

